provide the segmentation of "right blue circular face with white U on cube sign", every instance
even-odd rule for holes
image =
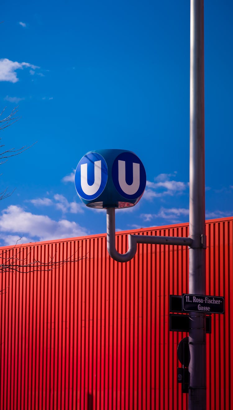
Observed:
[[[134,153],[121,153],[112,165],[112,180],[124,198],[139,198],[146,187],[146,171],[142,161]]]

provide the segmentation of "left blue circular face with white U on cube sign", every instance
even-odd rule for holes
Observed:
[[[107,164],[102,155],[88,153],[80,159],[75,171],[75,188],[85,200],[98,198],[107,183]]]

